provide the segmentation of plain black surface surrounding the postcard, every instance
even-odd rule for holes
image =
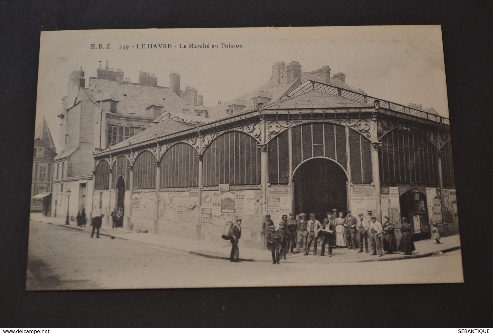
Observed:
[[[492,327],[492,7],[0,0],[0,326]],[[25,292],[40,31],[424,24],[442,25],[464,284]]]

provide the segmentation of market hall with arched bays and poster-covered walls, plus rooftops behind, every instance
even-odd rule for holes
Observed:
[[[163,118],[96,152],[93,215],[123,204],[130,230],[213,242],[241,217],[240,244],[252,248],[265,214],[278,225],[282,214],[321,219],[332,208],[389,216],[398,238],[401,217],[418,238],[432,221],[458,233],[447,118],[341,88],[344,74],[328,67],[304,82],[297,62],[286,68],[285,83],[271,78],[278,84],[249,101],[219,106],[218,120],[185,128]]]

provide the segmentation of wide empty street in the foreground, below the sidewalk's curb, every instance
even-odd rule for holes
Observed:
[[[230,263],[31,221],[27,290],[462,282],[460,250],[355,263]],[[240,249],[240,254],[242,250]],[[307,280],[307,278],[310,278]]]

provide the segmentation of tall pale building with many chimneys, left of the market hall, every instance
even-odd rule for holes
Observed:
[[[65,216],[68,204],[72,219],[81,209],[92,216],[95,152],[141,133],[159,117],[171,117],[188,126],[208,121],[206,108],[199,104],[203,98],[194,98],[196,90],[189,94],[192,99],[180,98],[178,73],[170,74],[170,87],[158,86],[157,80],[155,74],[141,71],[139,82],[131,82],[123,70],[108,68],[107,61],[104,68],[100,62],[96,76],[87,82],[82,68],[70,73],[68,95],[62,99],[62,113],[58,115],[60,147],[53,168],[54,216]]]

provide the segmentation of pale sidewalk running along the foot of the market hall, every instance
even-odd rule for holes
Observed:
[[[77,227],[76,224],[65,225],[64,219],[57,219],[52,217],[44,217],[40,214],[32,214],[31,221],[43,222],[53,225],[59,225],[65,228],[71,228],[79,231],[91,233],[92,227],[89,225],[86,228]],[[136,231],[118,229],[101,230],[100,235],[110,236],[113,235],[117,238],[147,243],[158,246],[163,249],[170,249],[174,251],[205,256],[215,259],[229,260],[229,254],[231,252],[231,243],[227,240],[221,243],[197,241],[192,239],[178,238],[174,236],[162,235],[162,234],[149,234],[149,233],[137,233]],[[403,254],[385,254],[383,257],[371,256],[365,252],[358,253],[356,250],[348,250],[347,248],[335,248],[332,250],[332,257],[325,256],[313,256],[313,246],[309,255],[304,256],[303,253],[288,254],[285,262],[287,263],[340,263],[340,262],[368,262],[368,261],[389,261],[389,260],[402,260],[413,259],[431,256],[436,252],[449,252],[452,250],[460,249],[459,235],[452,235],[442,237],[442,243],[435,244],[434,240],[426,239],[422,241],[416,241],[416,251],[412,255]],[[321,247],[318,247],[318,254],[320,254]],[[327,252],[327,250],[326,250]],[[327,253],[326,253],[327,254]],[[371,254],[371,252],[370,252]],[[251,249],[246,247],[240,247],[240,258],[243,261],[256,261],[256,262],[272,262],[272,255],[269,251],[262,251],[258,249]],[[282,260],[284,261],[284,260]]]

